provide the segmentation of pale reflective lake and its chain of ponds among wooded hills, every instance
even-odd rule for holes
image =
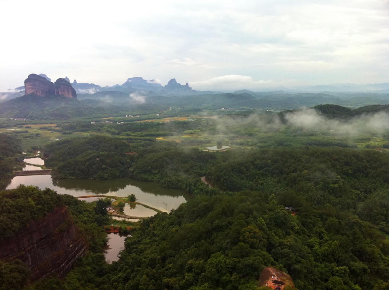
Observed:
[[[43,162],[43,159],[40,160]],[[44,163],[39,160],[34,160],[34,162],[31,161],[31,159],[25,159],[25,162],[31,164],[44,165]],[[14,189],[20,184],[34,185],[40,189],[45,189],[47,187],[55,190],[58,194],[70,194],[72,196],[101,194],[126,197],[129,194],[135,194],[138,202],[165,212],[170,212],[177,208],[181,203],[185,203],[186,200],[191,197],[182,190],[166,189],[156,182],[142,182],[131,178],[115,178],[109,180],[53,180],[51,175],[15,176],[8,181],[6,189]],[[96,198],[86,198],[84,200],[93,201],[96,200]],[[144,206],[130,206],[129,204],[126,204],[124,213],[135,217],[151,217],[156,214],[155,211],[145,208]],[[117,254],[123,249],[124,237],[109,234],[109,238],[105,257],[107,262],[112,262],[118,259]]]

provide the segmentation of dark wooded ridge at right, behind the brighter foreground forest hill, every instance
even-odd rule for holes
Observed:
[[[308,148],[226,152],[207,173],[222,190],[275,193],[280,203],[349,210],[389,233],[389,155]]]

